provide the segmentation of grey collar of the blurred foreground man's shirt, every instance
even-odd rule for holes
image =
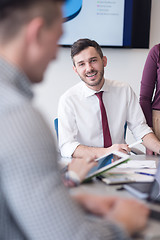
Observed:
[[[31,81],[22,72],[18,67],[9,63],[3,58],[0,58],[0,69],[1,69],[1,80],[9,82],[14,85],[23,95],[26,95],[28,98],[33,98],[33,92],[31,89]]]

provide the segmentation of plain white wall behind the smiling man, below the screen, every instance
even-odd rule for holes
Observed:
[[[150,48],[160,42],[159,12],[160,0],[152,0]],[[148,51],[148,49],[103,48],[103,53],[108,58],[105,76],[128,82],[139,97],[142,70]],[[57,61],[51,63],[45,73],[45,81],[35,87],[35,104],[44,113],[52,130],[59,97],[78,81],[80,80],[72,69],[70,48],[60,48]],[[127,141],[128,143],[134,141],[130,133],[127,133]]]

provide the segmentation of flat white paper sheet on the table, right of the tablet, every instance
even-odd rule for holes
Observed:
[[[156,162],[154,160],[130,160],[117,168],[156,168]]]

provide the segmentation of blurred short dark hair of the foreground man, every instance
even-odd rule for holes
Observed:
[[[0,37],[14,37],[19,29],[34,17],[42,17],[51,25],[59,16],[57,6],[65,0],[0,0]]]

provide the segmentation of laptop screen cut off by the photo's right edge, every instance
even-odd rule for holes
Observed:
[[[160,202],[160,161],[153,184],[150,188],[149,200]]]

